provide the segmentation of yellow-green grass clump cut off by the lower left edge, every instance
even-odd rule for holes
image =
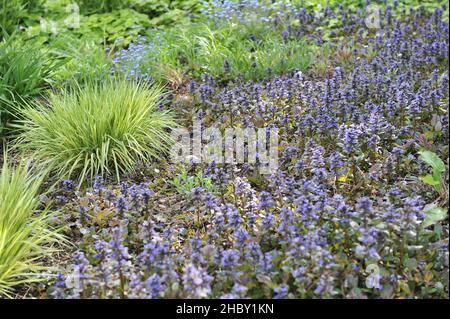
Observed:
[[[48,279],[44,264],[64,237],[49,226],[56,213],[36,214],[42,176],[25,164],[13,169],[4,159],[0,172],[0,297],[11,297],[14,288]]]

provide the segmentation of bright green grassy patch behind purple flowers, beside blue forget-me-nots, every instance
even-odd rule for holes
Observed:
[[[319,50],[306,40],[285,41],[279,32],[272,30],[261,32],[256,40],[251,40],[251,32],[241,28],[242,25],[231,23],[219,28],[204,23],[174,27],[162,36],[163,45],[157,48],[159,55],[142,59],[140,67],[148,69],[156,63],[183,70],[194,77],[207,73],[225,81],[237,76],[245,80],[262,80],[271,74],[306,71]],[[158,34],[153,39],[157,37]],[[150,46],[153,52],[154,44]],[[161,74],[152,76],[160,78]],[[164,75],[161,79],[164,80]]]

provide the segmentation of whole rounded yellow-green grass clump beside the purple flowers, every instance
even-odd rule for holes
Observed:
[[[167,152],[168,132],[176,123],[170,111],[158,111],[162,88],[108,80],[51,94],[49,104],[23,112],[17,146],[36,165],[80,185],[96,175],[120,175],[137,161]]]

